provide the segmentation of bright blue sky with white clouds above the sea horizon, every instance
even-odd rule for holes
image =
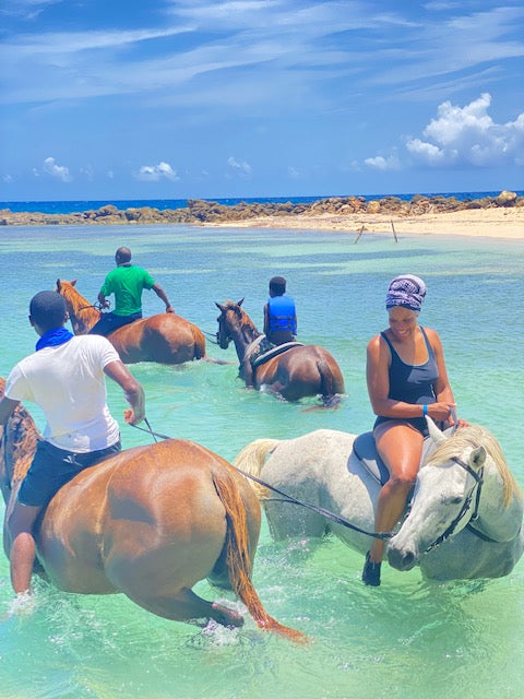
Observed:
[[[3,0],[0,200],[523,189],[521,0]]]

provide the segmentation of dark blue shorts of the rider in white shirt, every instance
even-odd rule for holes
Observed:
[[[33,507],[47,505],[62,485],[69,483],[78,473],[107,457],[117,454],[120,450],[120,440],[106,449],[80,454],[59,449],[48,441],[39,441],[17,499],[22,505]]]

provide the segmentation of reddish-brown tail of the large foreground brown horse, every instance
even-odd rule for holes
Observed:
[[[229,582],[235,594],[240,597],[248,607],[249,613],[260,628],[276,631],[296,642],[306,642],[307,637],[283,626],[267,614],[251,581],[251,559],[248,547],[248,523],[246,507],[240,498],[233,478],[227,476],[213,476],[218,497],[226,509],[226,557]]]

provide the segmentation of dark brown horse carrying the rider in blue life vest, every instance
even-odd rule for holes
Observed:
[[[240,360],[240,376],[246,379],[247,364],[257,343],[264,337],[241,308],[235,304],[216,304],[218,316],[218,344],[226,350],[233,340]],[[250,382],[247,381],[247,386]],[[325,405],[335,405],[337,395],[344,393],[344,379],[334,357],[319,345],[291,346],[252,370],[255,389],[267,386],[273,393],[286,401],[298,401],[307,395],[321,395]]]

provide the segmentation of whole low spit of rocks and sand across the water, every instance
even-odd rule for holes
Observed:
[[[500,197],[502,197],[502,192]],[[516,194],[512,194],[516,199]],[[500,240],[524,239],[524,205],[493,205],[499,198],[477,200],[464,208],[452,200],[415,199],[402,202],[364,202],[349,199],[319,200],[308,205],[246,204],[226,206],[216,202],[188,200],[188,206],[163,210],[152,206],[119,210],[105,205],[98,210],[69,214],[0,211],[0,225],[188,225],[213,228],[272,228],[295,230],[337,230],[366,235],[468,236]],[[348,205],[347,202],[350,202]],[[484,204],[484,205],[481,205]],[[446,208],[450,209],[446,209]]]

